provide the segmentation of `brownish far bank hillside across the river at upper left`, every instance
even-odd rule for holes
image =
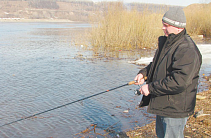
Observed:
[[[92,1],[62,1],[67,0],[0,0],[0,18],[89,21],[90,15],[105,7]]]

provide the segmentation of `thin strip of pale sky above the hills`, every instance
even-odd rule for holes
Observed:
[[[100,1],[123,1],[124,3],[140,2],[140,3],[153,3],[153,4],[166,4],[177,6],[188,6],[193,3],[210,3],[211,0],[93,0],[94,2]]]

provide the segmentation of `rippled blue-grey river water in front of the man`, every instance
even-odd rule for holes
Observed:
[[[81,137],[93,124],[96,128],[89,134],[104,137],[112,132],[107,136],[113,137],[154,119],[146,108],[137,108],[141,96],[134,95],[134,85],[24,119],[126,84],[140,67],[129,63],[137,56],[127,57],[122,52],[123,58],[97,60],[91,51],[75,46],[74,32],[90,27],[86,23],[0,25],[0,126],[23,119],[0,127],[0,137]],[[205,55],[202,76],[210,72],[211,47],[199,47]],[[145,52],[147,58],[151,53]]]

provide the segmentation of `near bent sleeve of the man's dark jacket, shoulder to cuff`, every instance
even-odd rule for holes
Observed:
[[[174,53],[170,74],[163,79],[149,83],[150,94],[160,96],[181,93],[198,75],[201,65],[200,57],[194,46],[186,45],[180,45]]]

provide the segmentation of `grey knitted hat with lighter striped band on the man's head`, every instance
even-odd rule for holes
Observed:
[[[180,7],[169,9],[164,14],[162,21],[178,28],[185,28],[186,26],[185,13]]]

